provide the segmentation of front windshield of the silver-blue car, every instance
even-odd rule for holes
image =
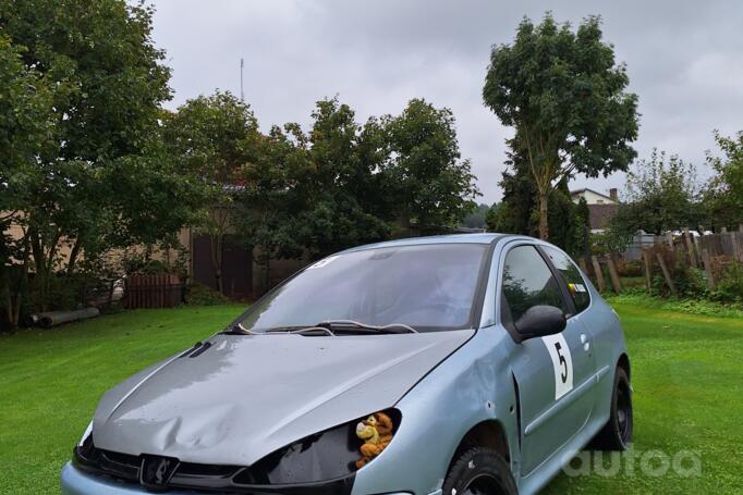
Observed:
[[[430,244],[331,256],[273,289],[240,323],[252,332],[332,320],[467,327],[486,251],[479,244]]]

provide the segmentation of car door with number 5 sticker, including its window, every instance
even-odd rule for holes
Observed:
[[[568,317],[557,334],[517,344],[511,357],[519,394],[521,475],[528,475],[586,424],[592,409],[595,362],[592,338],[576,318],[568,287],[548,257],[533,244],[510,247],[501,273],[501,320],[510,331],[533,306],[555,306]]]

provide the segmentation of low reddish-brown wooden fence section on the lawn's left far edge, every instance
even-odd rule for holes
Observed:
[[[127,309],[172,308],[181,302],[183,284],[178,275],[133,274],[126,277],[124,305]]]

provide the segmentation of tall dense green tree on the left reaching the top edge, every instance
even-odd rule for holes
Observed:
[[[153,156],[170,70],[153,44],[151,16],[123,0],[0,0],[3,33],[25,70],[53,89],[50,151],[35,152],[41,180],[20,205],[41,308],[53,302],[47,292],[63,245],[71,273],[83,255],[92,261],[139,242],[137,225],[148,225],[145,237],[172,235],[184,221],[178,207],[195,203],[160,190],[179,171]],[[197,193],[179,184],[180,193]]]

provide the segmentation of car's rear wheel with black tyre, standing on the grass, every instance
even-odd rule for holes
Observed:
[[[622,368],[614,373],[614,388],[611,394],[609,421],[592,442],[597,450],[626,450],[632,443],[633,412],[630,378]]]

